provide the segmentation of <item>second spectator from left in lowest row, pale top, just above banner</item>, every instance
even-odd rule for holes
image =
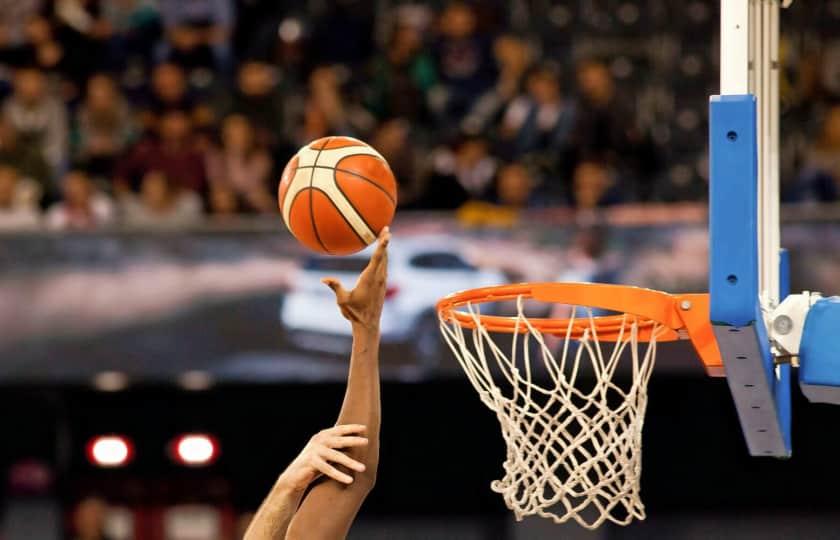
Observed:
[[[86,172],[73,169],[64,176],[64,199],[47,211],[51,229],[93,229],[114,219],[111,200],[96,190]]]

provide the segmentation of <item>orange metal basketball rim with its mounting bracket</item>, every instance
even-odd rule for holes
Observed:
[[[519,283],[480,287],[450,294],[437,303],[438,316],[462,328],[474,329],[477,324],[470,313],[458,308],[488,302],[533,299],[540,302],[567,304],[605,309],[636,318],[640,341],[651,339],[657,323],[661,330],[657,341],[691,340],[697,354],[710,375],[723,375],[723,361],[709,322],[708,294],[669,294],[653,289],[604,283]],[[478,315],[481,326],[490,332],[525,333],[528,328],[517,317]],[[584,330],[594,325],[602,341],[619,338],[625,315],[605,315],[578,318],[571,321],[571,335],[580,338]],[[543,334],[565,336],[569,330],[567,318],[529,317],[530,325]]]

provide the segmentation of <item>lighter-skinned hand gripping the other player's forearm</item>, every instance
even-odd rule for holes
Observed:
[[[364,432],[365,426],[346,424],[316,433],[280,475],[278,482],[284,483],[294,491],[305,490],[321,475],[342,484],[352,484],[353,477],[340,471],[336,465],[346,467],[350,471],[364,472],[364,464],[341,451],[367,445],[368,439],[361,436]]]

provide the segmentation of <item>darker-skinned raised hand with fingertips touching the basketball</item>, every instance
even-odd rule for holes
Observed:
[[[356,287],[347,291],[335,278],[322,281],[335,292],[335,299],[341,314],[353,324],[365,328],[379,328],[382,304],[385,302],[385,287],[388,278],[388,242],[391,231],[388,227],[379,233],[379,245],[370,258],[367,268],[362,271]]]

